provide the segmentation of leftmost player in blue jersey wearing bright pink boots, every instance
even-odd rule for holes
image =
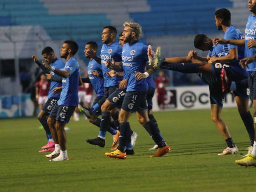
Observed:
[[[56,56],[55,53],[53,51],[53,49],[51,47],[45,47],[42,50],[42,56],[45,60],[45,62],[47,62],[48,64],[50,64],[51,66],[54,66],[56,69],[63,69],[65,66],[65,63],[62,62],[61,60],[59,60]],[[45,132],[46,132],[46,136],[47,136],[47,140],[48,143],[44,146],[42,146],[42,150],[40,150],[39,152],[46,152],[46,151],[53,151],[55,145],[54,145],[54,141],[52,138],[52,134],[50,131],[50,128],[47,124],[47,119],[49,117],[49,114],[53,108],[53,106],[55,105],[55,103],[59,100],[60,98],[60,94],[59,93],[54,93],[53,90],[56,87],[60,87],[62,85],[62,78],[59,77],[57,74],[55,74],[54,72],[51,72],[49,69],[47,69],[46,67],[44,67],[38,60],[37,60],[37,56],[33,55],[32,59],[34,60],[34,62],[43,70],[43,72],[50,74],[51,73],[51,86],[50,86],[50,90],[48,92],[48,100],[47,102],[44,104],[42,110],[39,112],[38,114],[38,120],[40,121],[40,123],[42,124]]]

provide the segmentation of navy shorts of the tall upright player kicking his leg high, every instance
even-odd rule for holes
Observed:
[[[242,68],[225,63],[212,63],[212,72],[216,77],[221,76],[222,68],[225,69],[230,81],[240,81],[248,78],[248,74]]]

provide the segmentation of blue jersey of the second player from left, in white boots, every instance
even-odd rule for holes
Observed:
[[[62,78],[62,91],[58,105],[78,106],[79,64],[75,57],[71,57],[64,70],[70,72],[68,78]]]

